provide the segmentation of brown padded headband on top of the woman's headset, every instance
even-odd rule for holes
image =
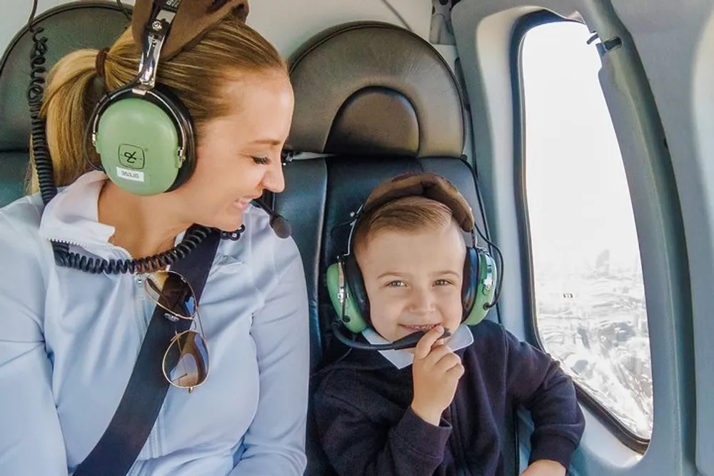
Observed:
[[[248,0],[136,0],[131,16],[134,41],[143,45],[146,29],[151,29],[149,19],[156,17],[156,9],[175,14],[169,36],[161,49],[161,60],[170,59],[186,46],[201,39],[208,27],[228,14],[242,21],[248,16]]]

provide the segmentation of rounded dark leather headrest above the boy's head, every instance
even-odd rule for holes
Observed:
[[[441,54],[391,24],[359,21],[307,41],[289,61],[297,152],[459,157],[461,94]]]

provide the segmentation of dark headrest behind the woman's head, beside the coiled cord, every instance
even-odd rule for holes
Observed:
[[[129,14],[131,7],[127,6]],[[116,2],[75,1],[49,9],[36,17],[36,26],[47,39],[47,71],[66,54],[83,48],[101,49],[114,43],[129,26]],[[27,151],[30,112],[27,87],[30,82],[32,35],[25,27],[10,42],[0,60],[0,151]]]

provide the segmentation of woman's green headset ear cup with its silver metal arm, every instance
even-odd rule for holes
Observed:
[[[156,83],[175,3],[154,2],[144,29],[139,76],[104,96],[89,121],[102,168],[111,181],[136,195],[175,190],[196,164],[191,114],[169,88]]]

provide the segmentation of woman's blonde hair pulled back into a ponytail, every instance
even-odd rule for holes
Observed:
[[[64,56],[47,76],[47,88],[40,116],[46,119],[47,145],[57,186],[69,185],[90,166],[84,158],[99,165],[91,143],[84,143],[89,116],[99,101],[93,87],[99,77],[96,58],[99,51],[82,49]],[[106,53],[104,89],[113,91],[134,80],[139,69],[139,47],[124,31]],[[233,14],[206,31],[200,41],[174,58],[159,63],[156,81],[169,86],[188,108],[196,126],[196,141],[201,140],[207,121],[225,116],[234,107],[222,100],[224,83],[241,73],[286,73],[285,61],[275,47],[257,31]],[[28,190],[38,190],[37,173],[31,161]]]

